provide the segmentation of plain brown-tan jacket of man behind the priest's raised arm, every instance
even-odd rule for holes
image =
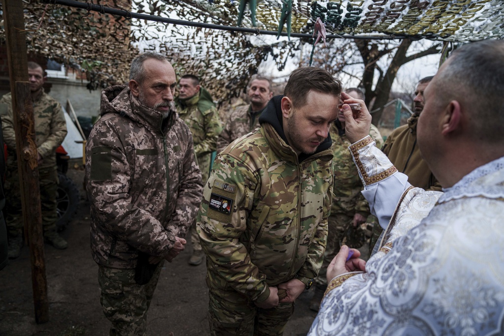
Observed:
[[[408,175],[408,182],[413,186],[441,191],[441,184],[420,156],[420,149],[416,143],[417,121],[418,116],[411,116],[407,124],[394,129],[385,141],[382,151],[397,170]]]

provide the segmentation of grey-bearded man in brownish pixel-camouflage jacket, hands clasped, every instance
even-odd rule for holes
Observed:
[[[129,87],[102,92],[86,145],[91,250],[110,334],[145,335],[163,267],[181,250],[202,197],[193,136],[173,104],[164,56],[133,60]]]

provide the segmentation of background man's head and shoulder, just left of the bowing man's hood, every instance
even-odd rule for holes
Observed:
[[[247,95],[250,105],[238,106],[229,113],[226,125],[217,139],[217,152],[259,127],[259,117],[273,97],[271,81],[264,77],[254,78],[248,84]]]

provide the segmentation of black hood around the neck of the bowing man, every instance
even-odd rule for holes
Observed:
[[[261,125],[263,125],[263,123],[271,124],[275,129],[275,131],[280,136],[280,138],[282,138],[282,140],[285,141],[285,143],[290,146],[289,142],[287,141],[287,138],[285,137],[285,132],[283,130],[283,116],[281,107],[282,98],[283,95],[278,95],[270,99],[268,105],[266,105],[265,110],[263,111],[263,113],[261,113],[261,116],[259,117],[259,123]],[[326,140],[324,140],[322,144],[319,145],[317,151],[312,154],[300,154],[299,162],[305,160],[311,155],[330,149],[332,143],[333,142],[331,140],[331,135],[328,132]]]

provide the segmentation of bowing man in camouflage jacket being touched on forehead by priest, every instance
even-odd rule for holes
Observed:
[[[214,162],[198,214],[213,335],[281,335],[322,264],[341,83],[299,68]],[[284,297],[285,296],[285,297]],[[255,323],[256,321],[256,323]]]

